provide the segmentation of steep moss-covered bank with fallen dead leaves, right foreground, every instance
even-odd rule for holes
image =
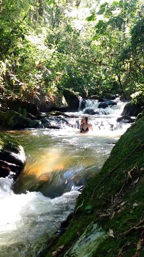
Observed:
[[[116,249],[114,255],[110,256],[118,255],[117,248],[122,249],[123,253],[128,250],[135,253],[140,232],[134,229],[125,237],[122,233],[144,218],[144,169],[141,169],[144,167],[143,140],[144,117],[137,120],[120,137],[99,174],[87,184],[77,199],[74,218],[57,243],[45,253],[47,257],[52,256],[52,252],[59,246],[70,248],[91,222],[101,226],[106,236],[97,239],[97,244],[94,244],[91,250],[87,250],[87,256],[106,256],[113,246],[116,246],[114,247]],[[132,178],[130,175],[128,177],[128,172],[134,166],[135,169],[130,172]],[[90,208],[89,211],[86,207]],[[109,229],[113,230],[115,237],[108,236]],[[122,238],[118,246],[117,240],[120,237]],[[76,253],[71,255],[70,251],[68,254],[68,256],[79,256]]]

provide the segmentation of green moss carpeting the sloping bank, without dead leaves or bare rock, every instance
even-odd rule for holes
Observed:
[[[120,192],[123,186],[123,181],[125,178],[127,178],[128,172],[134,167],[135,164],[138,166],[138,169],[144,167],[144,141],[141,142],[144,139],[143,131],[144,117],[137,120],[125,132],[125,134],[120,137],[120,140],[118,140],[115,147],[112,149],[110,157],[107,159],[100,172],[90,180],[82,194],[78,197],[75,210],[83,202],[82,207],[77,209],[76,215],[70,222],[66,232],[59,238],[57,244],[49,250],[47,256],[52,256],[52,251],[55,251],[55,249],[61,245],[70,246],[77,238],[77,232],[82,235],[85,228],[93,220],[96,220],[96,222],[102,226],[102,229],[106,233],[109,231],[109,228],[111,228],[115,233],[115,238],[107,236],[105,239],[101,239],[99,246],[93,250],[93,257],[106,256],[107,251],[114,246],[117,236],[120,233],[130,229],[140,221],[143,215],[143,205],[133,206],[134,203],[143,203],[143,172],[140,171],[135,172],[133,175],[133,181],[135,181],[135,179],[138,177],[140,178],[138,182],[139,185],[137,183],[135,188],[130,189],[130,184],[132,183],[131,179],[128,179],[124,185],[125,197],[123,198],[123,201],[126,201],[124,211],[120,213],[116,211],[113,219],[104,217],[100,218],[97,211],[100,210],[100,212],[103,213],[105,210],[110,208],[110,200],[112,195]],[[140,146],[136,148],[139,144]],[[128,158],[125,159],[125,157]],[[92,194],[95,187],[110,171],[112,171],[112,169],[114,169],[114,171],[108,175],[102,183],[100,183],[95,190],[95,194],[92,199]],[[92,206],[91,214],[87,214],[85,212],[85,207],[87,205]],[[128,236],[122,238],[120,247],[122,247],[127,241],[131,241],[129,249],[131,249],[130,247],[133,248],[133,240],[138,243],[138,232],[133,232],[133,234],[128,234]],[[135,252],[135,248],[133,248],[133,251]]]

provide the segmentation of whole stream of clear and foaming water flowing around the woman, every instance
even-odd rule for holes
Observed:
[[[83,111],[67,113],[73,127],[9,131],[24,147],[27,164],[18,180],[0,178],[0,256],[29,257],[45,245],[74,210],[82,186],[102,167],[130,124],[117,123],[125,103],[89,117],[94,132],[82,134]],[[86,107],[97,109],[97,100]]]

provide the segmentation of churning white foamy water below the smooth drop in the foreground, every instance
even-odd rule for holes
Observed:
[[[52,235],[57,230],[55,224],[59,227],[74,210],[80,193],[70,191],[54,199],[40,192],[14,194],[12,183],[9,177],[0,178],[0,256],[27,256],[29,244],[35,256],[39,240],[46,231]]]

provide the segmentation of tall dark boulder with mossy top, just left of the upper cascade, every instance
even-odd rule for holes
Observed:
[[[72,112],[77,111],[80,103],[79,95],[68,88],[64,88],[63,95],[68,103],[69,110]]]

